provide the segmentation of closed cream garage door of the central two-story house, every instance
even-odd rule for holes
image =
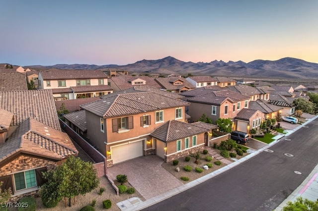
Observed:
[[[111,148],[113,164],[143,156],[143,140]]]

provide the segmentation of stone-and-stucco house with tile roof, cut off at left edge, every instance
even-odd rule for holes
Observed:
[[[62,132],[51,90],[0,92],[0,181],[10,201],[37,195],[42,172],[78,151]]]

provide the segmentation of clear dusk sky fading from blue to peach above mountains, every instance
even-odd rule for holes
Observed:
[[[318,63],[318,0],[1,0],[0,63]]]

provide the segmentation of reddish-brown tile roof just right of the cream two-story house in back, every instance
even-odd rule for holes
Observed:
[[[149,76],[116,76],[108,79],[109,81],[112,80],[115,85],[118,86],[120,90],[129,89],[131,87],[137,86],[136,84],[131,84],[131,81],[136,79],[142,79],[146,81],[146,84],[139,84],[138,86],[152,86],[158,89],[162,87],[155,81],[155,78]]]

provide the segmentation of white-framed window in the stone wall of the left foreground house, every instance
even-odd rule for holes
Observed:
[[[35,170],[24,171],[14,174],[15,190],[19,191],[36,186]]]

